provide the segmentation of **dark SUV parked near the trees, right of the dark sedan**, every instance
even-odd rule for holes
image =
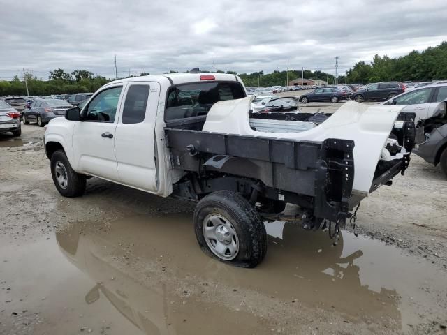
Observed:
[[[353,91],[349,96],[352,100],[361,103],[367,100],[388,100],[405,91],[402,82],[377,82],[369,84],[364,89]]]

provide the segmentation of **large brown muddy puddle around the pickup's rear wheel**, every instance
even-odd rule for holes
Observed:
[[[447,274],[425,260],[348,232],[331,246],[326,234],[295,225],[266,228],[264,262],[240,269],[200,251],[189,216],[76,223],[26,252],[0,246],[0,255],[20,260],[17,270],[5,258],[0,272],[11,267],[15,279],[0,287],[20,288],[27,301],[11,301],[10,309],[56,314],[54,334],[82,327],[110,334],[291,334],[288,327],[312,318],[318,329],[318,318],[332,321],[332,313],[351,329],[361,323],[408,332],[445,318]],[[34,330],[43,327],[35,323]]]

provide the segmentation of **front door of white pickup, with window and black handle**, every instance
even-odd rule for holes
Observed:
[[[124,85],[99,91],[82,110],[73,129],[73,156],[78,172],[120,182],[115,157],[115,130]]]

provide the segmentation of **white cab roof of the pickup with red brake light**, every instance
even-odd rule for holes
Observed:
[[[170,84],[186,84],[188,82],[200,82],[202,76],[214,76],[215,80],[226,81],[226,82],[241,82],[240,77],[237,75],[229,75],[226,73],[169,73],[166,75],[142,75],[140,77],[124,78],[119,80],[114,80],[108,84],[117,82],[163,82],[169,81]],[[210,79],[207,79],[210,80]]]

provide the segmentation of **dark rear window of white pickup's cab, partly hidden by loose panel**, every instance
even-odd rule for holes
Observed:
[[[214,103],[245,97],[239,82],[195,82],[168,91],[166,120],[206,115]]]

